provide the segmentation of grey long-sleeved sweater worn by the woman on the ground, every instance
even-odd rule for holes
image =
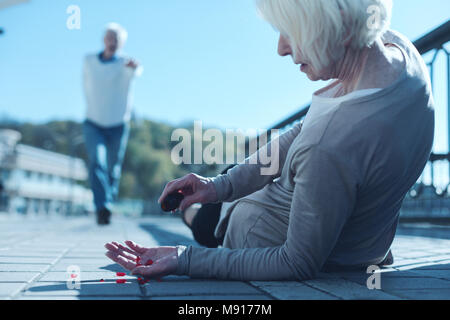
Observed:
[[[384,260],[402,201],[429,159],[435,119],[422,57],[395,31],[383,40],[404,53],[406,68],[396,82],[338,103],[281,135],[280,170],[273,175],[261,175],[261,165],[247,159],[212,179],[218,201],[249,201],[288,213],[286,242],[269,248],[183,247],[176,274],[303,280],[320,270]],[[232,209],[223,210],[216,234]]]

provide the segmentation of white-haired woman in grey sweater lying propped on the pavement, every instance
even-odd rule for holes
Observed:
[[[106,244],[133,274],[303,280],[392,262],[402,200],[434,137],[420,54],[388,29],[388,0],[261,0],[258,8],[280,32],[281,56],[312,81],[332,81],[313,94],[303,122],[266,146],[279,148],[277,172],[263,175],[246,159],[215,178],[167,184],[160,201],[182,190],[181,210],[225,202],[215,229],[223,247]]]

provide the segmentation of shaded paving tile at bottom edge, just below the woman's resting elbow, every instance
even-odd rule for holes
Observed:
[[[334,300],[335,296],[296,281],[250,281],[259,289],[280,300]]]

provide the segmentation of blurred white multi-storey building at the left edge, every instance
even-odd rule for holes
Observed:
[[[0,130],[0,211],[22,214],[84,213],[92,192],[78,158],[18,144],[21,135]]]

